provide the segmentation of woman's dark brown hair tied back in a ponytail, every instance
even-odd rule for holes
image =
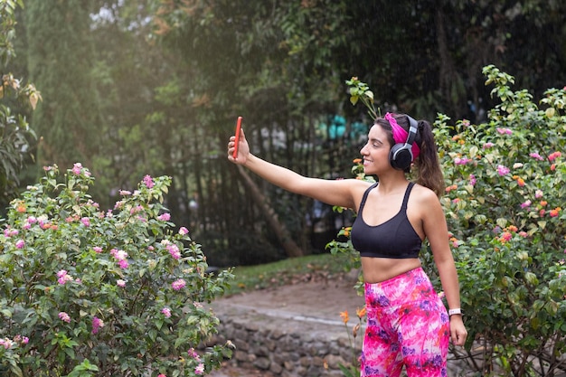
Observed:
[[[400,127],[409,132],[410,122],[407,116],[395,114],[393,117]],[[432,127],[426,120],[419,120],[417,123],[419,124],[419,132],[414,142],[420,147],[420,155],[413,161],[416,168],[416,182],[428,187],[440,197],[444,193],[444,175],[440,169],[439,154],[432,134]],[[374,124],[387,131],[391,147],[394,146],[395,140],[389,122],[383,118],[377,118]],[[407,168],[405,173],[410,173],[410,167]]]

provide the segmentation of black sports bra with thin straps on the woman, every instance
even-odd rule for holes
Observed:
[[[409,201],[411,182],[405,191],[401,210],[390,220],[371,226],[363,221],[363,206],[368,194],[377,183],[363,193],[358,215],[352,226],[351,240],[354,249],[362,257],[407,259],[419,258],[422,240],[407,218],[407,202]]]

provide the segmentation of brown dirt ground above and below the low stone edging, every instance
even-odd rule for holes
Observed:
[[[355,319],[355,310],[363,307],[363,297],[354,289],[355,274],[333,278],[301,279],[283,287],[272,287],[251,291],[232,297],[223,297],[216,301],[219,306],[247,307],[250,310],[269,312],[281,316],[307,316],[323,321],[341,323],[340,313],[348,311],[351,321]],[[274,377],[266,371],[249,370],[224,363],[212,377]]]

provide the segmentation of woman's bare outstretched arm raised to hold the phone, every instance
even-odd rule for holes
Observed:
[[[310,178],[297,174],[283,166],[271,164],[250,153],[250,146],[246,140],[243,129],[240,135],[238,156],[233,158],[234,139],[228,143],[228,159],[234,163],[247,167],[261,178],[275,184],[291,193],[298,193],[314,198],[320,202],[356,209],[363,190],[368,183],[356,179],[326,180]]]

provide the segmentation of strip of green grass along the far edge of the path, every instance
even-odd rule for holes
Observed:
[[[344,255],[316,254],[257,266],[235,267],[227,296],[250,290],[280,287],[301,281],[327,279],[348,272]]]

